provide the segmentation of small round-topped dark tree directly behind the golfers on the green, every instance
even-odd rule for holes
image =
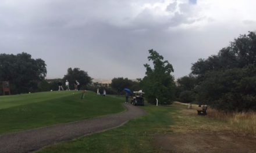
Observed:
[[[80,70],[80,68],[68,68],[67,74],[64,75],[62,82],[65,83],[66,80],[69,81],[70,89],[74,89],[74,82],[77,80],[80,83],[80,86],[87,86],[92,82],[91,77],[87,74],[86,71]]]

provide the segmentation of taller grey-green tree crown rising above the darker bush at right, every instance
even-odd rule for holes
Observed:
[[[256,34],[240,35],[230,42],[227,48],[219,51],[218,55],[208,59],[199,59],[191,67],[191,73],[203,79],[207,71],[220,71],[230,68],[242,68],[248,64],[256,64]]]

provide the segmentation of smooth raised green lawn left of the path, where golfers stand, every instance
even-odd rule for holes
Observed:
[[[0,134],[115,114],[122,102],[90,91],[82,100],[74,90],[0,96]]]

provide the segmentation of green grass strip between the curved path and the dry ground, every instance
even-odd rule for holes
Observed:
[[[95,133],[77,140],[50,145],[38,152],[156,152],[152,141],[155,134],[172,133],[173,107],[144,107],[147,115],[132,119],[125,125]]]

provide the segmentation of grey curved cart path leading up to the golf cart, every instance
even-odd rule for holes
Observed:
[[[0,152],[35,151],[45,145],[115,128],[123,125],[129,119],[146,114],[139,107],[134,107],[131,104],[123,105],[127,111],[119,114],[0,135]]]

